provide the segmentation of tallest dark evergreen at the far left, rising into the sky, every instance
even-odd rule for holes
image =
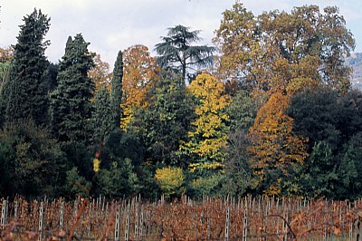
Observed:
[[[33,119],[43,124],[47,118],[47,86],[44,72],[48,61],[44,56],[49,41],[43,41],[48,32],[50,18],[34,9],[24,17],[20,25],[18,43],[14,46],[14,57],[10,69],[10,82],[6,88],[6,121]]]

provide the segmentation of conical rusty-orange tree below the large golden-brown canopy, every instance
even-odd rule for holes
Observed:
[[[307,157],[306,140],[293,132],[293,120],[285,113],[288,107],[289,96],[272,93],[250,129],[252,145],[248,150],[256,176],[255,188],[262,189],[266,195],[285,191]],[[292,191],[295,190],[287,190]]]

